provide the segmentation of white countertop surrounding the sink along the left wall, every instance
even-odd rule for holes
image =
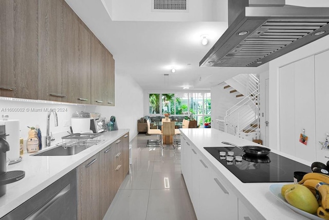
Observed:
[[[0,197],[0,217],[20,206],[129,131],[129,129],[120,129],[103,132],[98,139],[104,141],[72,156],[30,156],[25,153],[21,162],[7,167],[7,171],[25,171],[25,177],[7,185],[6,194]]]

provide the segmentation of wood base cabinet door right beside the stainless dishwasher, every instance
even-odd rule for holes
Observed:
[[[99,157],[96,154],[77,168],[78,219],[101,219]]]

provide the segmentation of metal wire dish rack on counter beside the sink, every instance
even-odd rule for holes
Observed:
[[[100,139],[100,134],[94,133],[74,133],[62,137],[62,143],[58,145],[63,146],[64,148],[71,146],[92,146],[96,145],[102,140]]]

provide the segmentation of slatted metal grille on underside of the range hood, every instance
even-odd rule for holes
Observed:
[[[260,63],[261,59],[269,54],[279,52],[281,48],[306,35],[312,35],[327,24],[329,24],[328,20],[320,22],[268,20],[213,66],[247,67]]]

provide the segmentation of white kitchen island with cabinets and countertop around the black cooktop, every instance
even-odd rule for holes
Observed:
[[[181,171],[198,219],[308,219],[283,205],[269,191],[272,184],[288,182],[244,183],[204,149],[228,146],[222,141],[239,146],[259,144],[215,129],[180,131]],[[307,166],[311,164],[275,150],[271,152]],[[207,175],[212,176],[207,179]]]

